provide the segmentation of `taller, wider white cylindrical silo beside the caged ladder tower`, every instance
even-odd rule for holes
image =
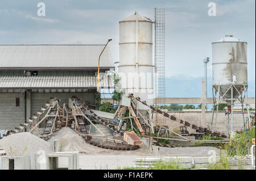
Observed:
[[[153,71],[152,21],[135,12],[119,22],[118,74],[125,92],[121,104],[130,93],[153,104]],[[138,108],[148,110],[143,104]]]

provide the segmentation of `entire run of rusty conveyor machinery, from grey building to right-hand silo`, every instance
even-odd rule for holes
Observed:
[[[143,106],[148,107],[151,110],[154,110],[156,113],[163,115],[164,117],[170,118],[170,121],[177,121],[181,124],[181,126],[186,129],[187,127],[191,127],[196,132],[200,134],[210,134],[213,137],[222,137],[227,138],[224,133],[220,133],[217,131],[210,131],[209,128],[203,128],[201,126],[197,126],[195,124],[190,124],[188,121],[183,121],[178,119],[173,115],[169,115],[166,112],[161,111],[154,106],[148,105],[146,101],[142,101],[139,97],[134,97],[133,94],[129,94],[127,99],[130,100],[129,106],[120,106],[117,112],[114,115],[114,119],[119,120],[119,123],[114,121],[114,119],[108,119],[106,117],[98,116],[95,110],[89,108],[88,105],[82,103],[82,101],[76,96],[72,96],[69,99],[68,104],[63,104],[60,106],[60,100],[57,98],[51,98],[49,102],[46,102],[46,106],[42,106],[41,110],[38,110],[28,121],[24,124],[20,125],[19,128],[15,128],[14,131],[10,131],[7,134],[3,135],[3,137],[8,136],[9,134],[19,133],[19,132],[33,132],[38,128],[40,123],[45,121],[45,128],[43,133],[40,134],[40,138],[47,140],[51,137],[54,132],[61,129],[61,127],[71,127],[74,129],[80,136],[84,137],[84,140],[91,145],[98,146],[104,149],[113,149],[113,150],[135,150],[138,149],[139,146],[142,145],[142,140],[138,136],[152,138],[154,145],[167,146],[167,147],[176,147],[175,145],[170,144],[159,144],[156,142],[158,139],[165,140],[176,140],[176,141],[188,141],[188,142],[228,142],[228,140],[191,140],[184,135],[171,131],[168,127],[160,125],[153,121],[152,119],[145,116],[141,110],[137,107],[138,104],[143,104]],[[128,117],[124,115],[129,113]],[[43,116],[44,115],[44,116]],[[42,118],[41,118],[42,117]],[[135,125],[139,130],[138,133],[135,133],[135,129],[126,131],[120,129],[122,127],[123,121],[134,121]],[[109,128],[113,132],[113,136],[105,135],[101,132],[99,128],[97,128],[97,124],[103,124],[107,128]],[[89,129],[86,129],[86,125],[90,125]],[[131,123],[132,125],[132,123]],[[101,135],[91,134],[91,127],[95,127],[97,131]],[[158,128],[159,132],[164,131],[164,134],[167,137],[161,137],[162,134],[158,133],[157,137],[150,136],[150,132],[152,127]],[[160,128],[160,129],[159,129]],[[175,134],[179,136],[180,139],[168,137],[170,134]],[[113,144],[102,144],[101,142],[93,141],[92,137],[101,137],[104,138],[106,142],[114,142]]]

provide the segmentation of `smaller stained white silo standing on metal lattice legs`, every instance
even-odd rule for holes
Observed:
[[[232,35],[226,35],[223,39],[213,42],[212,69],[213,104],[218,106],[221,99],[228,103],[233,130],[233,104],[241,96],[238,100],[243,110],[247,100],[247,42],[240,41]],[[245,122],[244,116],[243,121]]]

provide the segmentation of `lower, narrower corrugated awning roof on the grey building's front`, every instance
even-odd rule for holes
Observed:
[[[97,76],[3,76],[0,77],[0,89],[88,89],[97,87]],[[114,87],[112,76],[102,76],[100,87]]]

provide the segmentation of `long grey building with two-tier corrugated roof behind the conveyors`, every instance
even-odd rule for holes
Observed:
[[[98,56],[104,45],[0,45],[0,129],[24,123],[51,97],[77,95],[95,106]],[[110,48],[101,56],[100,87],[113,87]]]

